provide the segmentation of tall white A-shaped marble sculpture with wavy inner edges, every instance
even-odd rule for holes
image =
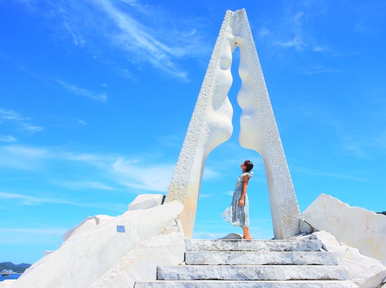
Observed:
[[[165,202],[184,204],[180,219],[185,238],[191,238],[206,158],[233,132],[227,93],[236,46],[240,48],[242,80],[237,96],[242,109],[239,141],[264,160],[274,236],[287,239],[299,233],[300,210],[244,9],[225,14]]]

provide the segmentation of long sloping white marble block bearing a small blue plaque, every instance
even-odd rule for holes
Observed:
[[[88,287],[136,245],[159,235],[182,209],[183,205],[175,201],[127,211],[71,237],[28,268],[12,288]],[[117,226],[125,226],[125,232],[118,232]]]

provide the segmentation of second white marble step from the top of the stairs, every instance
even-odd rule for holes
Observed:
[[[187,265],[337,265],[335,252],[185,252]]]

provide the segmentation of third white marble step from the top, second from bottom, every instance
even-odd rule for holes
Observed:
[[[348,280],[345,266],[176,265],[158,266],[158,280]]]

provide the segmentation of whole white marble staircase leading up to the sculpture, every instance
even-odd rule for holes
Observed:
[[[135,288],[348,288],[348,271],[320,240],[185,240],[185,263],[158,266]]]

